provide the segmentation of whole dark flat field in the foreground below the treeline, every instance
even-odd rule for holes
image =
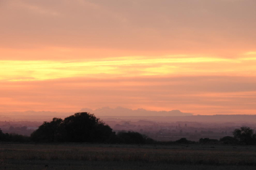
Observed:
[[[256,147],[0,143],[0,169],[255,169]]]

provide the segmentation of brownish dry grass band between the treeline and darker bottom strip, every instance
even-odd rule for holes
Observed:
[[[255,147],[138,145],[1,144],[0,164],[8,160],[119,161],[168,164],[256,165]]]

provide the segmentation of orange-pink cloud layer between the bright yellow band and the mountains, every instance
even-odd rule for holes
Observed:
[[[195,114],[253,114],[255,77],[69,78],[1,83],[2,111],[126,107]],[[12,105],[9,105],[13,101]]]

